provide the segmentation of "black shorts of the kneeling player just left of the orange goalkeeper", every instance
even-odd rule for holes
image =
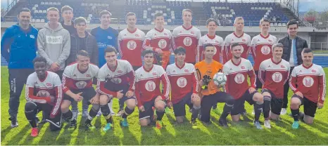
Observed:
[[[188,93],[184,96],[184,98],[182,98],[182,100],[173,104],[173,111],[175,112],[175,117],[186,115],[186,105],[191,105],[191,94],[192,93]]]

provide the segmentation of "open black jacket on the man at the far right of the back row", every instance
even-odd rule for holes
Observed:
[[[303,48],[308,48],[308,43],[305,39],[302,39],[301,37],[296,36],[296,55],[297,55],[297,63],[298,65],[301,65],[303,63],[301,53],[303,51]],[[289,39],[289,36],[285,36],[282,39],[279,39],[278,43],[281,43],[284,45],[284,53],[282,54],[282,59],[289,62],[289,59],[291,58],[291,44],[292,40]]]

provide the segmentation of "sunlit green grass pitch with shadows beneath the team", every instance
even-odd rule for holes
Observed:
[[[328,68],[324,70],[327,74]],[[327,102],[322,110],[317,110],[315,124],[301,123],[298,130],[291,129],[293,119],[288,115],[283,115],[282,121],[272,121],[270,130],[257,130],[251,122],[246,121],[232,124],[229,128],[222,128],[217,122],[220,114],[214,112],[211,113],[213,124],[204,126],[198,122],[198,129],[189,126],[191,117],[189,112],[187,112],[188,122],[184,124],[176,125],[174,115],[166,114],[163,118],[165,124],[163,129],[141,128],[136,109],[128,118],[129,128],[121,128],[119,119],[115,118],[114,130],[104,133],[101,128],[106,121],[98,117],[93,121],[97,128],[94,131],[84,131],[79,116],[80,125],[75,131],[68,131],[65,127],[67,124],[64,124],[61,131],[51,132],[49,124],[45,124],[39,126],[39,136],[32,138],[30,125],[25,119],[23,95],[20,97],[19,126],[11,128],[8,121],[8,69],[1,67],[1,145],[327,145],[328,143]],[[115,100],[114,105],[114,110],[117,112],[118,100]],[[220,111],[222,106],[223,104],[219,104]],[[81,109],[81,105],[79,108]],[[246,103],[246,110],[251,113],[253,107]],[[38,115],[42,117],[41,113]],[[253,119],[252,115],[248,117]],[[231,118],[228,119],[229,123],[232,123]],[[263,121],[263,116],[260,121]]]

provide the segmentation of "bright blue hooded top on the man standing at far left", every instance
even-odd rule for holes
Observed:
[[[8,69],[32,69],[37,56],[38,30],[30,25],[27,30],[18,24],[8,27],[1,39],[1,55],[8,62]]]

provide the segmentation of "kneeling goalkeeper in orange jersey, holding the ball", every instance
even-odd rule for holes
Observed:
[[[205,87],[201,90],[203,97],[201,100],[200,119],[203,122],[209,123],[211,107],[216,105],[217,102],[225,102],[219,124],[220,126],[228,126],[227,116],[234,106],[234,98],[225,92],[221,92],[220,87],[216,86],[213,79],[211,79],[214,74],[221,72],[223,67],[220,62],[213,60],[214,51],[215,46],[212,44],[205,44],[203,51],[205,60],[195,65],[196,70],[198,69],[201,75],[200,85]],[[205,79],[210,79],[210,81],[206,81]]]

